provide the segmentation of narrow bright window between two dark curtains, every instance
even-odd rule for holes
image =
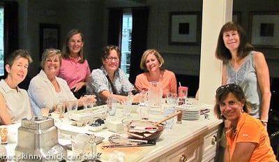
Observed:
[[[123,14],[122,22],[122,42],[121,42],[121,69],[129,78],[130,73],[130,51],[132,39],[132,22],[131,13]]]

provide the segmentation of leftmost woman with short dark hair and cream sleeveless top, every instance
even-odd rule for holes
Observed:
[[[27,91],[17,86],[26,78],[31,62],[31,56],[25,50],[16,50],[6,59],[8,75],[0,81],[0,125],[17,123],[33,116]]]

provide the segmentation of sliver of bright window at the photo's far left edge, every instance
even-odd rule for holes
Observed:
[[[4,75],[4,8],[0,7],[0,76]]]

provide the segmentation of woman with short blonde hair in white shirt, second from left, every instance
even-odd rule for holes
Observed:
[[[68,87],[66,80],[56,77],[61,66],[61,52],[56,49],[46,49],[42,55],[42,70],[31,79],[28,94],[31,100],[34,115],[41,115],[40,109],[50,108],[52,111],[57,103],[75,101],[72,91]],[[93,96],[90,96],[94,101]],[[80,98],[77,101],[79,106],[87,98]]]

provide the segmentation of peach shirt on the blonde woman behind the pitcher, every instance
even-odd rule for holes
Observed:
[[[163,84],[163,96],[165,97],[167,92],[172,92],[177,94],[177,82],[175,75],[172,71],[164,70],[163,77],[159,79],[159,82]],[[141,73],[137,75],[135,79],[135,87],[140,91],[148,90],[149,80],[147,80],[146,73]]]

